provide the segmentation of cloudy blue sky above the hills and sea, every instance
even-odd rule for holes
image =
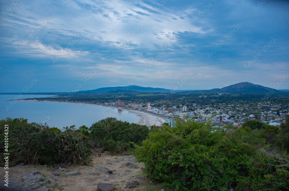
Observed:
[[[0,92],[289,89],[289,1],[1,0]]]

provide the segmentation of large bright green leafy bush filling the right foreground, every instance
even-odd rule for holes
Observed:
[[[136,158],[144,162],[149,178],[175,190],[262,190],[281,183],[288,188],[288,157],[268,163],[258,150],[264,143],[258,131],[178,120],[176,127],[149,133]]]

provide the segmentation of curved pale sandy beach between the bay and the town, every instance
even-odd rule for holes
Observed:
[[[16,101],[38,101],[38,100],[24,100],[24,99],[18,99]],[[55,103],[74,103],[74,102],[64,102],[64,101],[42,101],[42,102],[55,102]],[[140,117],[140,120],[138,121],[139,125],[147,125],[147,126],[160,126],[162,123],[164,123],[164,119],[154,116],[152,114],[142,112],[142,111],[136,111],[136,110],[131,110],[123,107],[115,107],[115,106],[109,106],[109,105],[99,105],[99,104],[91,104],[91,103],[76,103],[76,104],[85,104],[85,105],[97,105],[97,106],[103,106],[103,107],[108,107],[108,108],[118,108],[121,110],[127,110],[129,112],[133,112],[137,114],[137,116]]]

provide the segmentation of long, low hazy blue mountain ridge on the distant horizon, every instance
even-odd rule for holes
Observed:
[[[107,88],[98,88],[95,90],[86,90],[86,91],[79,91],[77,93],[88,93],[88,92],[108,92],[112,90],[130,90],[130,91],[138,91],[138,92],[171,92],[173,90],[164,89],[164,88],[151,88],[151,87],[142,87],[142,86],[118,86],[118,87],[107,87]],[[178,92],[184,91],[193,91],[193,90],[176,90]]]

